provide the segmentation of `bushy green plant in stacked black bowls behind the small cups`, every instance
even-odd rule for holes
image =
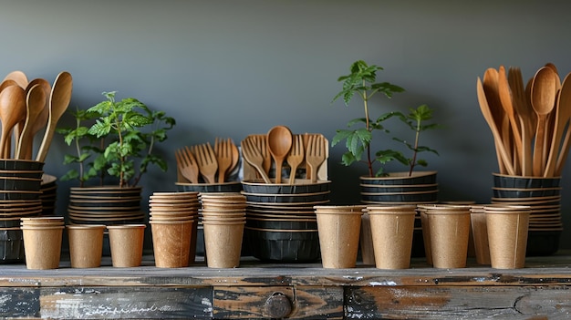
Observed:
[[[113,214],[99,222],[139,221],[140,179],[151,164],[167,170],[154,147],[167,139],[175,120],[136,98],[116,100],[115,91],[103,95],[106,99],[95,106],[72,112],[75,127],[58,129],[75,149],[74,154],[65,155],[64,164],[76,167],[61,178],[79,184],[70,190],[68,212],[70,218],[85,222],[93,207],[109,207]],[[122,213],[119,206],[125,207]],[[99,216],[105,213],[103,208],[97,210]]]

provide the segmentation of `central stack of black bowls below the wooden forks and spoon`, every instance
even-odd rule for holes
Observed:
[[[296,184],[243,181],[247,199],[245,234],[254,257],[272,262],[321,258],[314,206],[328,203],[330,181]]]

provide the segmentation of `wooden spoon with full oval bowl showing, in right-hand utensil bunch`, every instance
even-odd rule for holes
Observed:
[[[547,116],[555,108],[557,75],[551,67],[541,67],[535,73],[532,83],[532,107],[537,114],[537,129],[535,134],[535,147],[532,173],[535,177],[542,177],[545,163],[542,154],[545,143],[545,125]]]

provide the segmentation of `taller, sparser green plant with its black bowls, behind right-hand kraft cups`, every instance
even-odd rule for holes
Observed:
[[[416,171],[417,166],[427,166],[427,161],[419,158],[421,152],[432,152],[438,155],[436,150],[420,145],[420,132],[438,128],[437,124],[426,124],[432,119],[432,110],[427,105],[418,108],[410,108],[408,113],[389,111],[382,113],[377,119],[371,119],[369,101],[377,93],[382,93],[386,98],[391,98],[394,93],[403,92],[404,89],[389,82],[377,82],[377,72],[382,67],[369,66],[366,62],[358,60],[350,67],[350,73],[338,77],[337,81],[343,82],[342,89],[333,98],[343,98],[345,105],[354,96],[363,101],[364,118],[352,119],[348,122],[348,129],[337,129],[331,145],[345,140],[347,152],[342,156],[342,163],[346,166],[364,162],[369,174],[360,177],[361,201],[363,203],[430,203],[436,202],[438,188],[436,183],[436,171]],[[399,137],[391,137],[385,121],[398,119],[406,129],[410,129],[411,141]],[[360,127],[358,126],[360,125]],[[408,130],[407,130],[408,131]],[[371,141],[375,134],[386,135],[390,140],[400,142],[404,150],[409,152],[410,157],[405,156],[401,150],[371,150]],[[365,156],[365,160],[363,159]],[[403,164],[407,170],[388,172],[384,165],[396,160]],[[378,167],[376,169],[375,167]],[[426,233],[415,232],[413,239],[412,254],[424,255],[423,235]],[[361,255],[363,263],[375,264],[372,249],[372,238],[368,214],[363,214],[361,222]]]

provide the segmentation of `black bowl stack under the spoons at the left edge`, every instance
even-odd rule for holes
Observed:
[[[0,160],[0,263],[24,261],[20,219],[42,213],[43,165],[32,160]]]

